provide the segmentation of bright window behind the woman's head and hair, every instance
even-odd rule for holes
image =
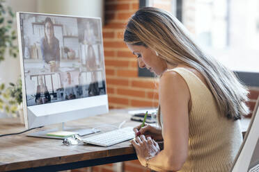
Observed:
[[[235,71],[246,85],[259,86],[258,0],[143,2],[173,13],[208,54]]]

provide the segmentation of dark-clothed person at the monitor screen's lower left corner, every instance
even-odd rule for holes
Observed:
[[[37,86],[36,92],[36,104],[44,104],[51,101],[51,97],[49,95],[49,91],[47,90],[47,86],[43,82],[42,76],[39,76],[40,85]]]

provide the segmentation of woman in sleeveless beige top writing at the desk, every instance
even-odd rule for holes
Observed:
[[[159,76],[161,128],[134,128],[141,164],[155,171],[228,171],[242,143],[238,119],[249,113],[246,88],[164,10],[138,10],[124,41],[139,67]],[[164,140],[164,150],[155,140]]]

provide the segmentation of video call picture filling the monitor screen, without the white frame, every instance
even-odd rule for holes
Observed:
[[[27,106],[106,94],[101,20],[19,13]]]

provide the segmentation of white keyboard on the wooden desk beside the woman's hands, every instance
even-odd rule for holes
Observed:
[[[100,135],[94,135],[91,137],[84,138],[85,144],[95,144],[98,146],[111,146],[113,144],[118,144],[123,141],[133,139],[135,133],[132,127],[125,127],[110,132],[105,132]]]

